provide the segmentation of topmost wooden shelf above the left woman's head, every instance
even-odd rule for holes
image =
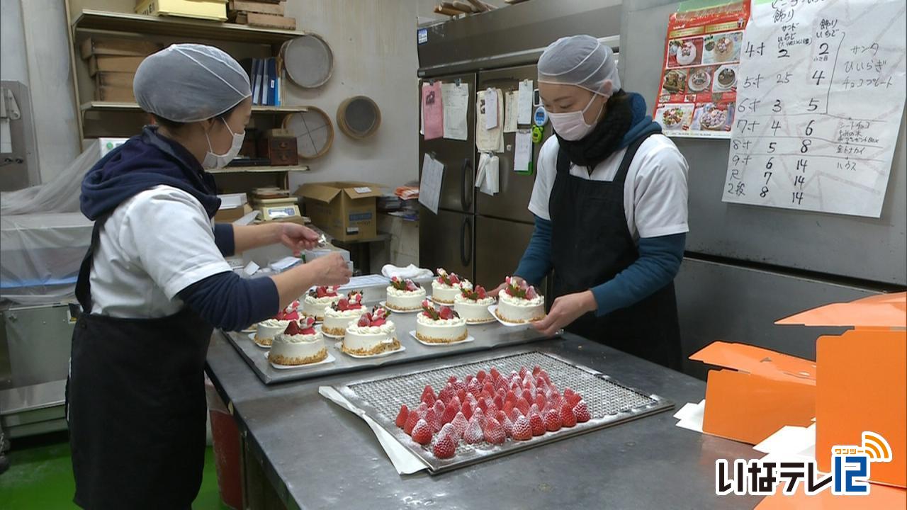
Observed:
[[[147,16],[93,9],[84,9],[75,18],[73,30],[107,30],[253,44],[282,44],[284,41],[305,34],[301,31],[220,23],[177,16]]]

